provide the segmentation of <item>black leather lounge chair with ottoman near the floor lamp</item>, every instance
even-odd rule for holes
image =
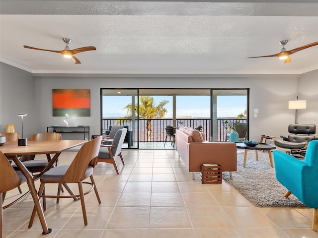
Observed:
[[[296,157],[303,158],[309,141],[315,139],[315,124],[290,124],[288,126],[288,137],[281,136],[282,139],[274,141],[279,149]]]

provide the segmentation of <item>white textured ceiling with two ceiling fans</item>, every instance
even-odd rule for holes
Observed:
[[[316,0],[0,0],[0,61],[33,73],[300,74],[318,69],[318,46],[291,56],[246,59],[318,41]],[[95,46],[76,55],[63,50]]]

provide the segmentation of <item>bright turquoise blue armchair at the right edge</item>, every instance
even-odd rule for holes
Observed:
[[[310,141],[304,160],[274,151],[277,180],[307,207],[314,208],[313,230],[318,229],[318,140]]]

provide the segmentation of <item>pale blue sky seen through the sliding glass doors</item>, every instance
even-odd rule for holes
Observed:
[[[161,100],[168,100],[165,117],[172,118],[172,96],[154,96],[156,105]],[[246,109],[246,96],[218,96],[217,117],[237,117]],[[124,108],[131,103],[130,96],[103,96],[103,117],[124,117]],[[177,117],[210,117],[210,96],[177,96]]]

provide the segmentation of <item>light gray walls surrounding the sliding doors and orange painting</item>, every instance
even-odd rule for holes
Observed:
[[[299,99],[311,100],[307,95],[317,88],[315,75],[318,70],[304,75],[174,75],[161,76],[114,76],[106,75],[78,75],[63,76],[36,76],[32,79],[30,73],[1,63],[1,71],[5,77],[0,78],[1,108],[0,126],[5,129],[6,123],[17,123],[17,113],[21,111],[12,105],[14,110],[4,107],[2,100],[14,94],[16,87],[23,90],[23,94],[16,95],[14,104],[23,101],[22,109],[28,113],[25,123],[33,122],[34,127],[25,129],[28,136],[41,131],[51,124],[63,125],[63,117],[52,116],[52,89],[74,88],[90,89],[91,116],[69,118],[69,124],[89,125],[91,133],[100,133],[100,88],[250,88],[250,139],[259,140],[260,134],[271,134],[276,137],[287,134],[287,126],[295,121],[295,111],[288,109],[288,101]],[[19,77],[16,76],[19,75]],[[27,75],[27,77],[25,75]],[[12,76],[11,76],[12,75]],[[12,79],[12,80],[11,80]],[[3,82],[3,83],[2,83]],[[303,82],[310,82],[311,87],[302,87]],[[10,85],[9,90],[3,94],[2,85]],[[31,86],[32,85],[32,86]],[[198,86],[199,85],[199,86]],[[310,90],[310,91],[309,91]],[[315,94],[315,99],[317,95]],[[310,107],[309,107],[310,106]],[[20,107],[21,108],[21,107]],[[257,118],[254,118],[254,109],[258,109]],[[308,102],[308,109],[299,111],[299,123],[310,121],[317,124],[317,107],[315,102]],[[2,116],[5,112],[10,116]],[[13,116],[12,116],[13,115]],[[30,117],[29,117],[30,115]],[[33,116],[34,115],[34,116]],[[13,119],[15,117],[15,119]],[[28,119],[30,119],[28,121]],[[14,122],[12,122],[14,120]]]

